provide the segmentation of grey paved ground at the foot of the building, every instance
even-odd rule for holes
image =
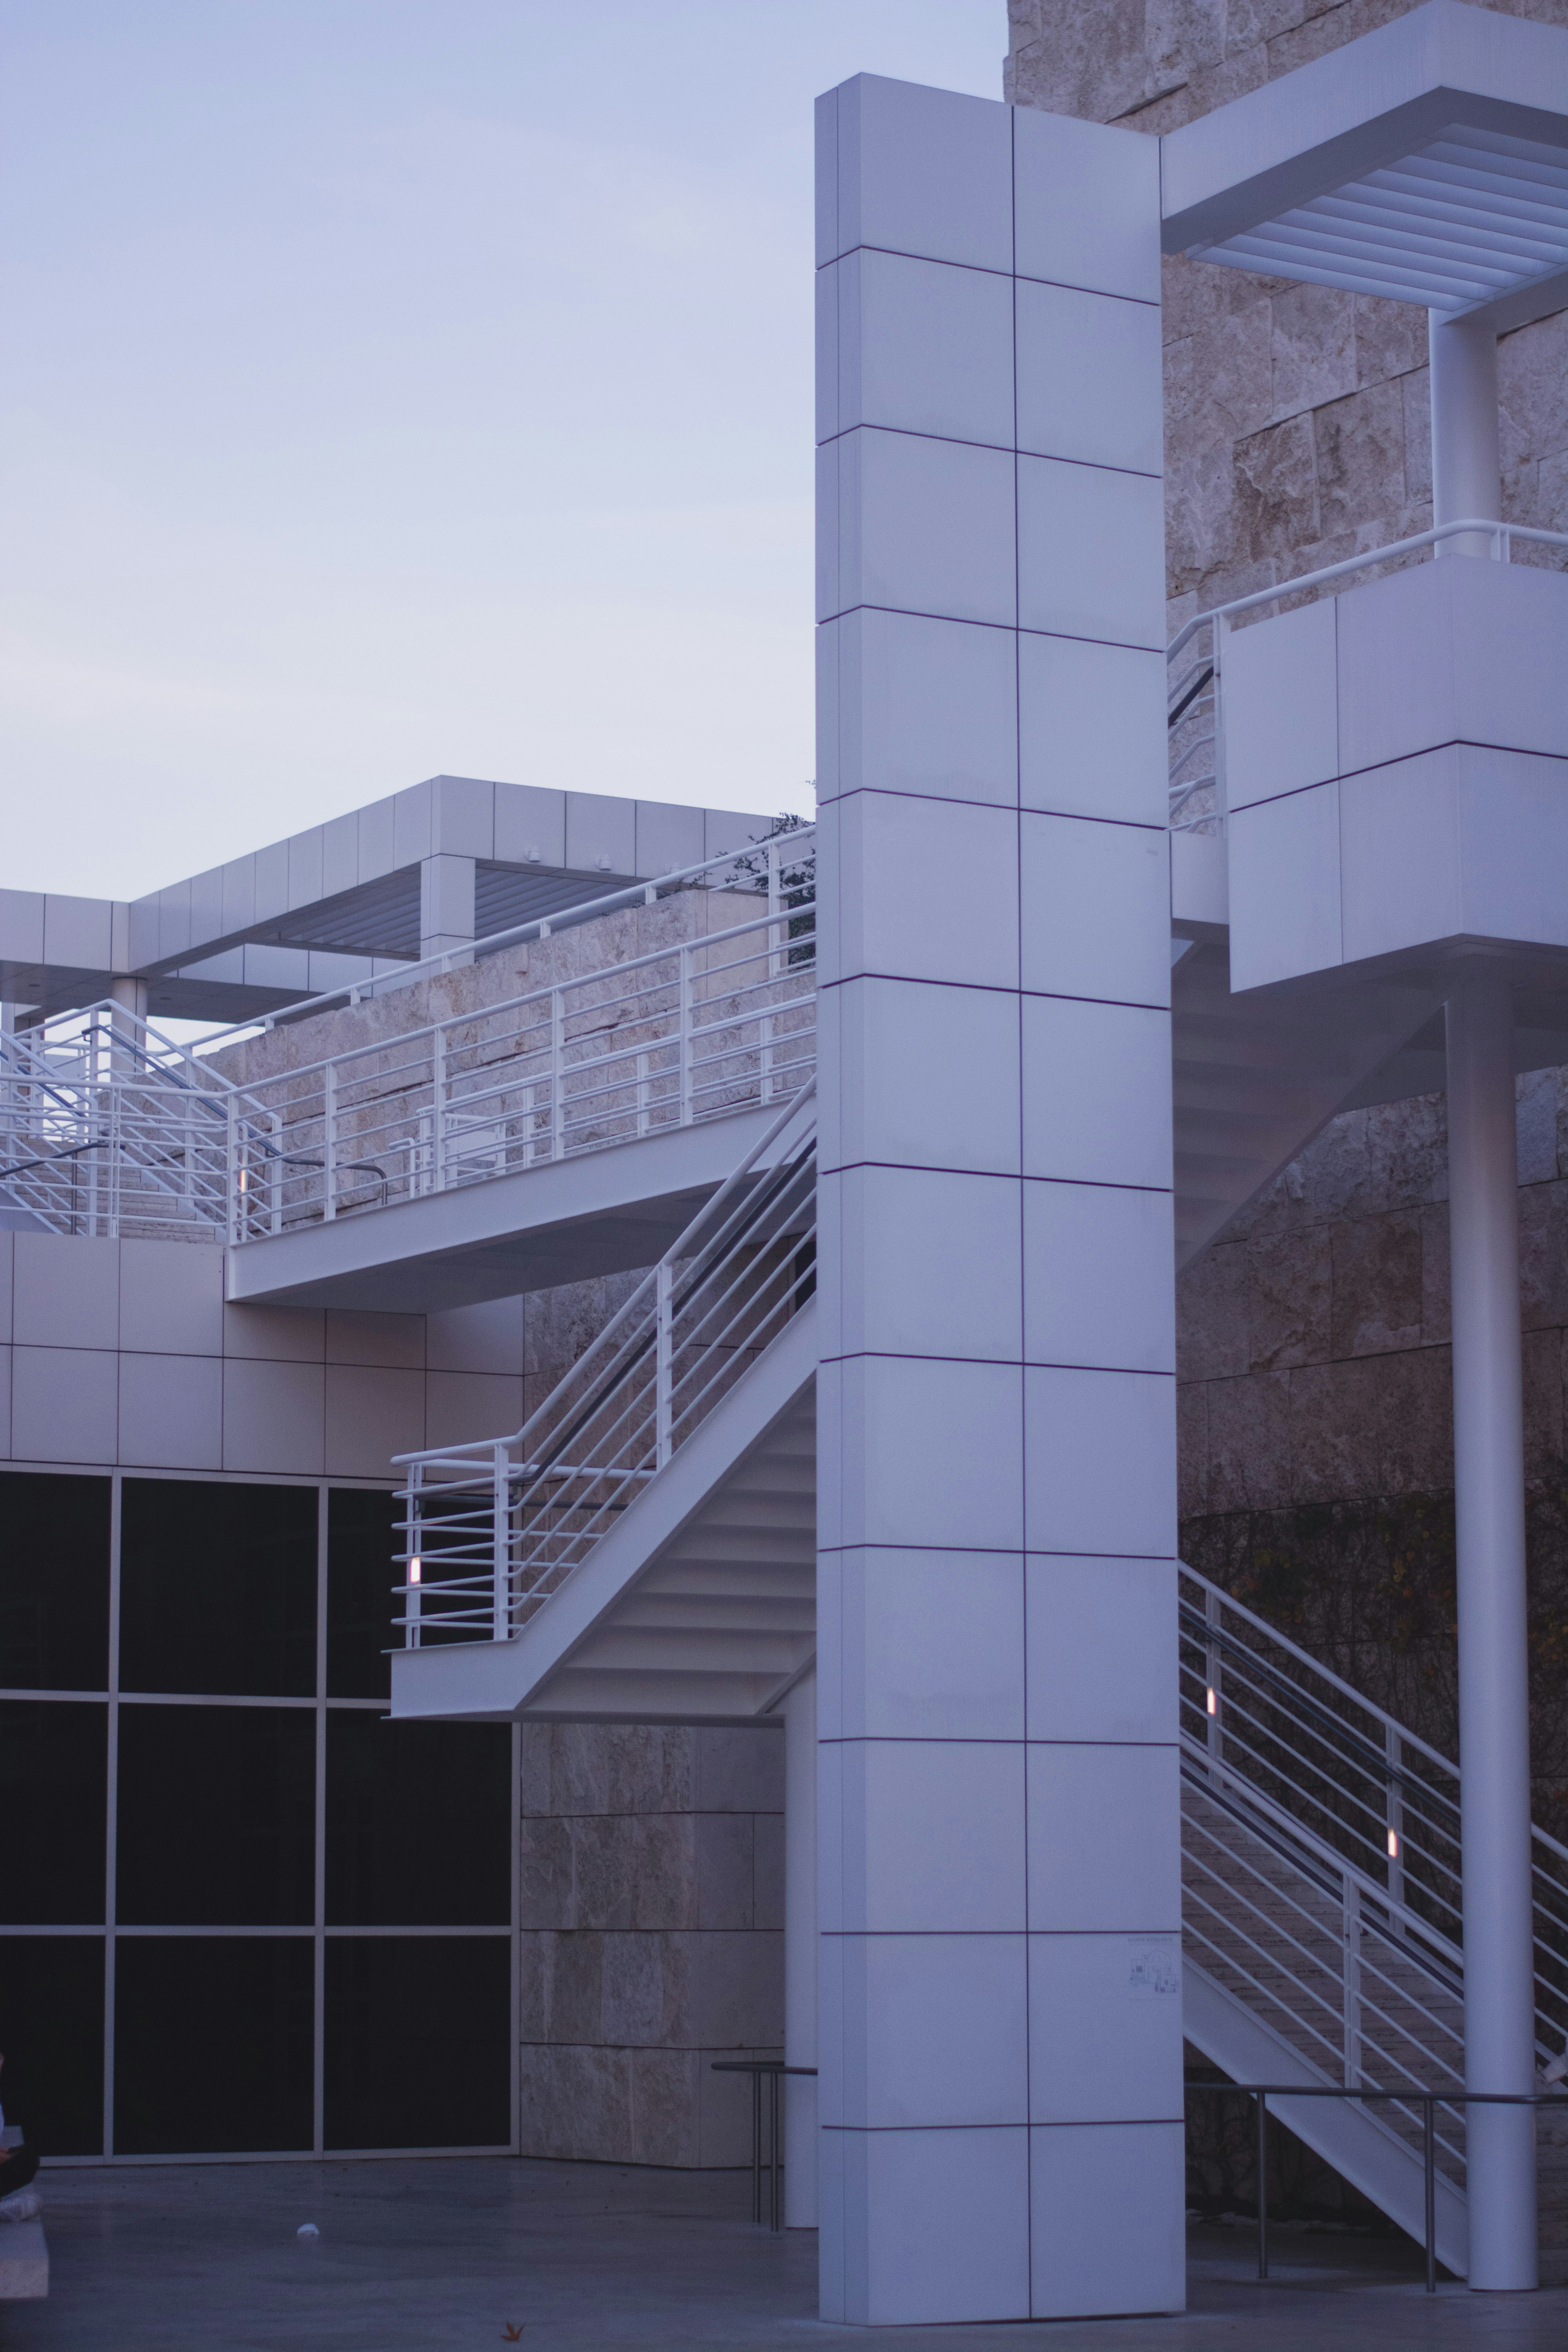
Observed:
[[[733,2173],[454,2157],[56,2171],[40,2190],[54,2293],[0,2303],[0,2352],[1568,2345],[1568,2288],[1427,2298],[1413,2249],[1284,2232],[1258,2286],[1251,2234],[1222,2227],[1192,2232],[1182,2319],[827,2328],[816,2239],[755,2230]],[[303,2220],[320,2239],[301,2244]]]

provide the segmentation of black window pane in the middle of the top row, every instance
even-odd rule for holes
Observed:
[[[120,1689],[315,1696],[315,1489],[127,1477]]]

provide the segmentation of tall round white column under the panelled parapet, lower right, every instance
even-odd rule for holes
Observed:
[[[1465,2082],[1474,2091],[1535,2089],[1512,1040],[1514,1014],[1505,976],[1467,974],[1448,997],[1448,1230],[1465,1792]],[[1472,2107],[1467,2147],[1469,2284],[1535,2286],[1535,2112]]]

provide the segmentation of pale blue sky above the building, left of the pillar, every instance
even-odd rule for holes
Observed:
[[[811,99],[1004,0],[9,0],[0,882],[809,809]]]

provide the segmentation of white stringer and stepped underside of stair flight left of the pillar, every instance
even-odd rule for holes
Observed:
[[[816,1367],[806,1301],[515,1639],[393,1651],[393,1717],[766,1719],[816,1653],[816,1510],[802,1522],[797,1496],[764,1498],[755,1536],[731,1529],[717,1562],[703,1517],[731,1494],[745,1505],[771,1444],[802,1454],[792,1425],[813,1418]],[[813,1456],[813,1425],[804,1446]],[[661,1590],[677,1557],[679,1590]]]

